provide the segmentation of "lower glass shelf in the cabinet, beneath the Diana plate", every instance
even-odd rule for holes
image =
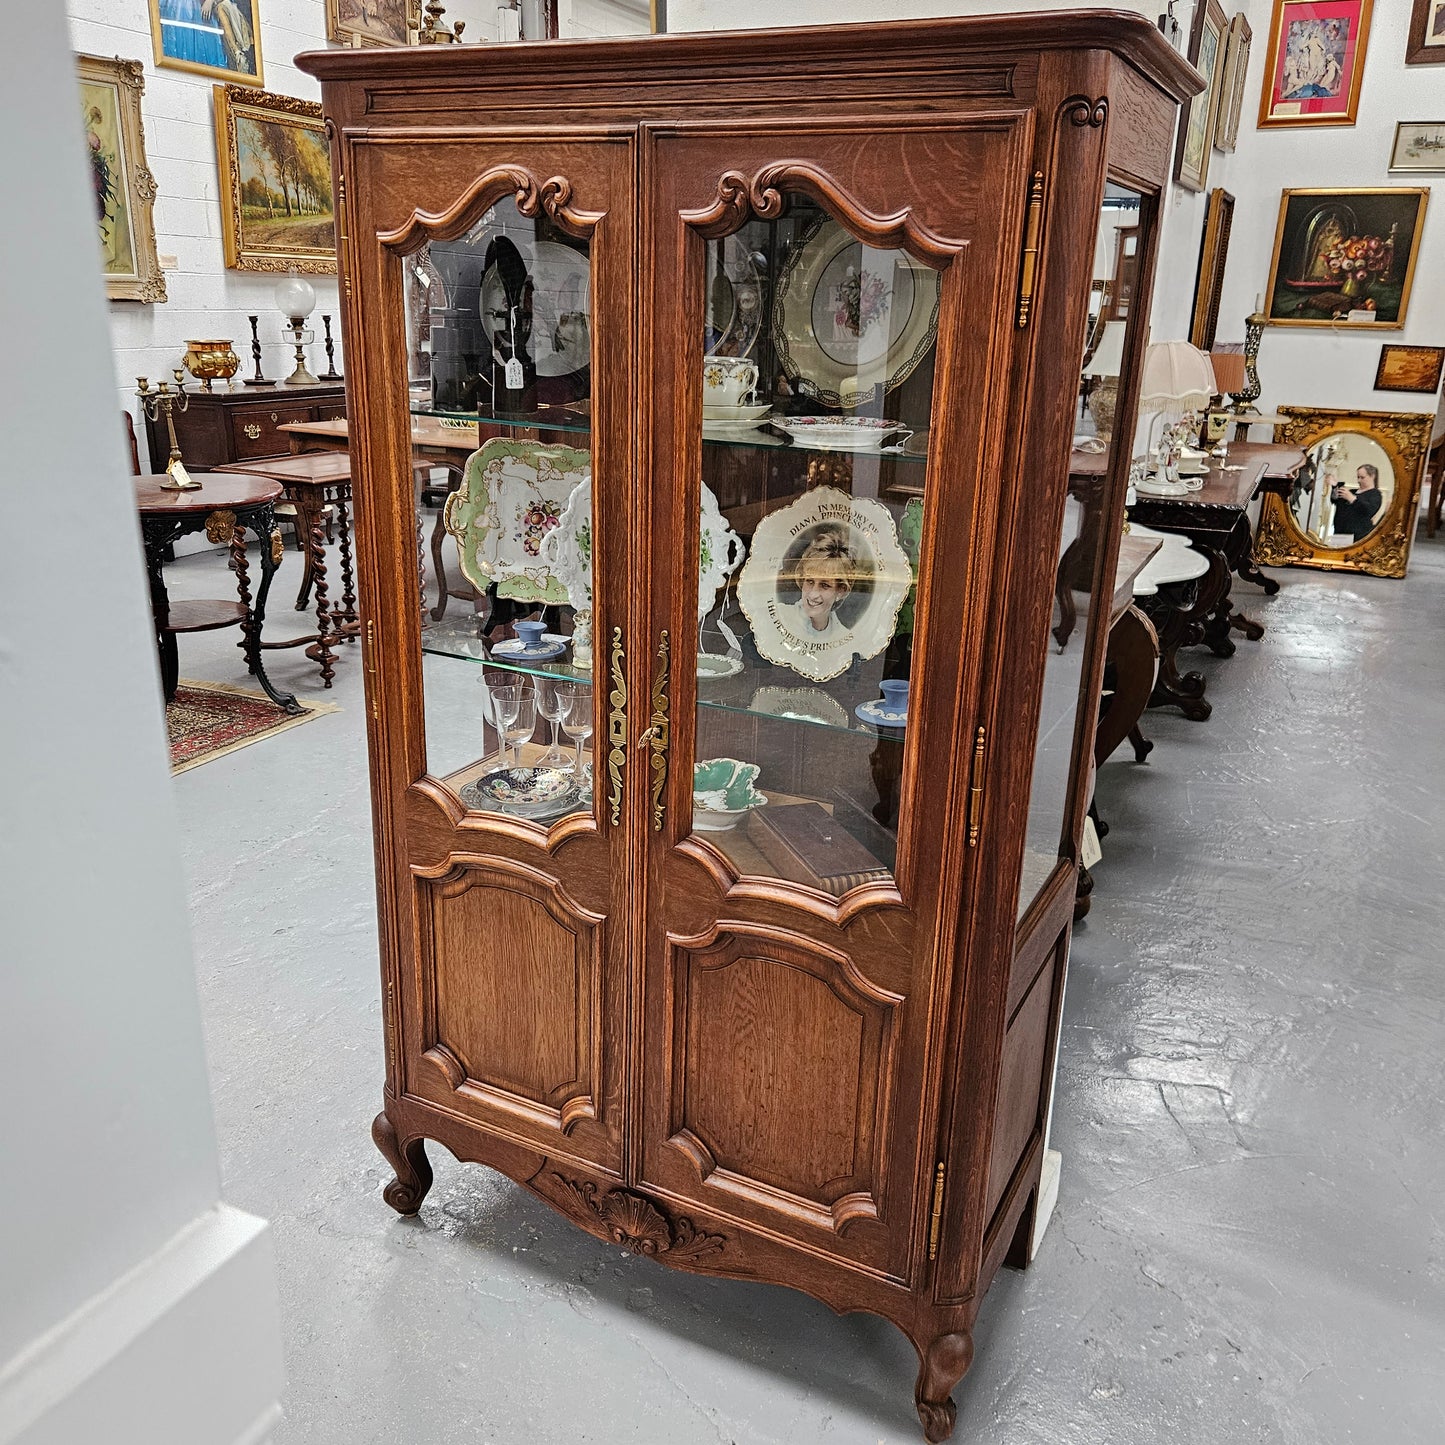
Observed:
[[[546,662],[519,662],[493,657],[487,644],[462,629],[432,624],[422,633],[422,652],[434,657],[455,657],[488,670],[510,672],[529,678],[552,678],[559,682],[588,682],[591,672],[569,662],[566,656]],[[718,656],[718,655],[712,655]],[[718,660],[724,660],[718,656]],[[718,712],[733,712],[775,722],[816,728],[819,733],[845,733],[874,743],[902,744],[903,728],[876,728],[858,720],[854,708],[880,695],[883,657],[854,662],[842,676],[828,682],[796,678],[779,682],[779,669],[766,662],[736,659],[738,670],[727,676],[698,676],[698,707]],[[762,705],[759,705],[759,699]]]

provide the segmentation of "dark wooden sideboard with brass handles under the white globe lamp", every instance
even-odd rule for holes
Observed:
[[[186,386],[191,397],[184,412],[175,412],[176,441],[181,457],[194,471],[217,471],[237,461],[256,457],[279,457],[290,449],[288,435],[280,431],[289,422],[327,422],[347,415],[344,381],[322,381],[318,386],[237,384],[227,390],[224,381],[214,392],[202,392],[198,383]],[[165,416],[159,422],[146,419],[146,441],[150,445],[150,470],[162,473],[171,455]]]

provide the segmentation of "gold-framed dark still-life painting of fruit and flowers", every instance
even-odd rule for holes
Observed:
[[[1266,315],[1273,327],[1403,327],[1428,189],[1286,191]]]

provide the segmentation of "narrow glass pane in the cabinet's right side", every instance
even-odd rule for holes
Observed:
[[[1064,824],[1074,776],[1074,736],[1084,705],[1085,652],[1095,605],[1108,607],[1111,579],[1094,595],[1094,575],[1104,545],[1104,486],[1116,445],[1113,434],[1124,335],[1131,318],[1139,267],[1137,192],[1105,188],[1094,246],[1094,286],[1081,366],[1082,413],[1074,416],[1074,452],[1064,526],[1055,553],[1053,616],[1045,639],[1043,701],[1033,753],[1029,818],[1019,886],[1019,916],[1038,897],[1069,847]],[[1081,760],[1082,766],[1082,760]]]

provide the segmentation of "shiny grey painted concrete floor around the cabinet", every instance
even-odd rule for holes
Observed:
[[[1059,1207],[984,1306],[959,1441],[1445,1439],[1445,538],[1405,582],[1277,575],[1240,588],[1261,643],[1195,655],[1214,717],[1103,770]],[[233,643],[184,639],[182,675],[244,682]],[[881,1321],[633,1260],[441,1149],[419,1220],[381,1202],[354,650],[325,696],[176,779],[225,1196],[276,1231],[275,1445],[920,1439]]]

